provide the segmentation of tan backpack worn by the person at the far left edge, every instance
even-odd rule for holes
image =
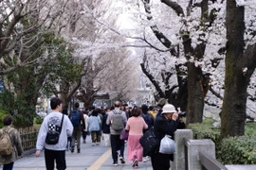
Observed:
[[[9,130],[0,129],[1,138],[0,138],[0,155],[10,155],[12,153],[12,143],[10,140],[9,133],[14,130],[10,127]]]

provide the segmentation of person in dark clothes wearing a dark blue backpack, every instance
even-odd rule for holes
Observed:
[[[84,123],[83,114],[79,110],[79,103],[75,103],[75,108],[70,113],[69,118],[74,127],[73,134],[72,134],[71,153],[73,153],[75,150],[76,142],[77,142],[77,151],[78,151],[78,153],[80,153],[81,152],[81,147],[80,147],[81,131],[82,131],[82,129],[85,130],[85,123]],[[82,126],[81,126],[81,123],[82,123]]]

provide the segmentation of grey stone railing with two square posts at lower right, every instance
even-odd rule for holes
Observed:
[[[171,170],[227,170],[215,159],[215,144],[208,139],[193,140],[191,129],[177,129],[175,143]]]

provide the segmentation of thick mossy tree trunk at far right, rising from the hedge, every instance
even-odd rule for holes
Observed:
[[[244,54],[245,8],[236,7],[235,0],[227,1],[227,54],[221,139],[245,134],[247,84],[255,70],[255,45]],[[254,51],[254,52],[253,52]],[[253,59],[254,53],[254,59]],[[247,74],[243,68],[247,67]]]

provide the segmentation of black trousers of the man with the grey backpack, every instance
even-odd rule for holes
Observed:
[[[110,143],[111,143],[111,150],[112,150],[112,159],[115,162],[118,162],[119,155],[123,158],[124,152],[124,141],[120,140],[120,135],[110,135]],[[118,153],[120,150],[120,154]]]

